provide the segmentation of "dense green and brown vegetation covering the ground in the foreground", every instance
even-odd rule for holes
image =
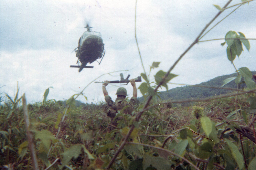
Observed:
[[[0,165],[33,169],[17,96],[0,106]],[[104,103],[76,107],[73,102],[66,111],[62,101],[46,100],[27,108],[40,169],[56,160],[51,169],[106,168],[134,123],[112,169],[195,169],[193,165],[197,169],[251,169],[256,164],[256,137],[250,128],[255,125],[256,111],[251,99],[233,96],[189,107],[160,104],[146,111],[138,123],[123,115],[117,127],[110,124]]]

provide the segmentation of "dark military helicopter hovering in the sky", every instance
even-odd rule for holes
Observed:
[[[78,47],[74,49],[76,57],[78,57],[78,65],[70,65],[70,67],[79,68],[78,72],[83,68],[93,68],[93,66],[86,66],[87,63],[97,61],[97,59],[103,59],[105,55],[104,43],[101,37],[101,33],[91,31],[89,24],[84,27],[87,29],[78,41]],[[101,61],[97,61],[99,64]]]

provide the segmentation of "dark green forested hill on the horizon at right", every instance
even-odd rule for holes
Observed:
[[[256,74],[256,71],[252,71],[252,74]],[[213,86],[213,87],[220,87],[223,84],[223,80],[235,77],[237,76],[237,73],[229,74],[229,75],[223,75],[218,76],[214,79],[211,79],[206,82],[202,82],[197,85],[201,86]],[[226,84],[224,87],[227,88],[236,88],[237,85],[233,81]],[[243,88],[243,86],[242,86]],[[189,98],[205,98],[220,94],[225,94],[231,92],[230,90],[224,90],[224,89],[212,89],[212,88],[203,88],[203,87],[195,87],[195,86],[185,86],[185,87],[176,87],[174,89],[163,91],[159,94],[162,100],[179,100],[179,99],[189,99]],[[142,97],[143,98],[143,97]]]

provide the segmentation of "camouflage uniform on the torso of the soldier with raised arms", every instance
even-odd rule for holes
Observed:
[[[128,106],[123,110],[123,113],[132,115],[134,107],[137,104],[137,99],[135,97],[132,97],[129,102],[125,100],[125,97],[117,97],[115,102],[113,102],[111,97],[109,95],[106,95],[105,100],[107,102],[107,116],[111,118],[112,124],[114,126],[117,126],[117,121],[121,119],[116,118],[113,121],[113,118],[115,118],[116,113],[118,113],[118,110],[121,111],[125,106]]]

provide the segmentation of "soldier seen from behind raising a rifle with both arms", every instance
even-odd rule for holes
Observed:
[[[137,88],[135,84],[135,80],[130,80],[131,85],[133,86],[133,97],[130,99],[130,101],[126,101],[125,98],[127,96],[127,90],[124,87],[120,87],[116,91],[117,98],[115,102],[111,99],[111,97],[108,95],[108,92],[106,90],[106,86],[109,84],[109,81],[104,81],[102,85],[102,91],[105,96],[105,100],[107,102],[107,116],[111,118],[112,124],[114,126],[117,126],[117,119],[113,121],[113,118],[116,116],[116,113],[118,113],[118,110],[122,110],[125,106],[126,107],[123,110],[124,114],[130,114],[132,115],[132,111],[134,110],[135,105],[137,104]]]

